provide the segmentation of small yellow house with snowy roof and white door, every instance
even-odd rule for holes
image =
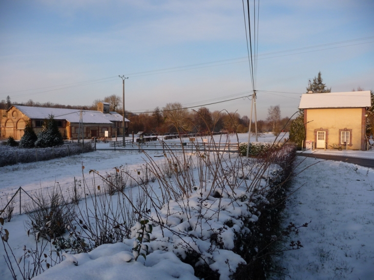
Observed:
[[[303,94],[306,141],[314,148],[336,144],[343,149],[365,150],[366,110],[370,91]]]

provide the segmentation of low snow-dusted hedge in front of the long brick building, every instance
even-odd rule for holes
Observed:
[[[69,155],[91,152],[92,150],[91,143],[85,144],[84,147],[78,143],[70,143],[49,148],[19,148],[1,145],[0,167],[17,163],[63,158]]]

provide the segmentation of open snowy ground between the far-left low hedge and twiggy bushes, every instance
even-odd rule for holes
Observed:
[[[216,142],[228,141],[237,142],[236,136],[219,135],[215,136]],[[280,138],[288,137],[288,134]],[[238,134],[239,142],[246,142],[248,134]],[[130,138],[129,138],[130,139]],[[261,134],[258,137],[260,142],[272,142],[275,137],[272,133]],[[201,139],[197,138],[197,141]],[[252,136],[251,142],[255,140]],[[167,140],[168,143],[179,142],[180,139]],[[188,141],[188,138],[182,138],[182,142]],[[111,148],[109,143],[97,143],[97,148]],[[155,161],[163,160],[162,151],[147,152]],[[126,165],[130,170],[140,168],[146,157],[137,151],[129,152],[123,150],[97,150],[96,152],[75,155],[66,158],[54,159],[43,162],[20,163],[11,166],[0,167],[0,196],[5,193],[11,193],[19,186],[25,190],[38,189],[40,187],[53,186],[55,182],[60,185],[74,182],[75,178],[82,177],[82,165],[88,172],[95,169],[100,174],[113,170],[114,167]]]

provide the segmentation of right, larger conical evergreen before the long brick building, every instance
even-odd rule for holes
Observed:
[[[50,115],[49,119],[45,120],[43,128],[41,128],[37,137],[35,145],[38,147],[53,147],[64,144],[63,136],[58,130],[53,115]]]

